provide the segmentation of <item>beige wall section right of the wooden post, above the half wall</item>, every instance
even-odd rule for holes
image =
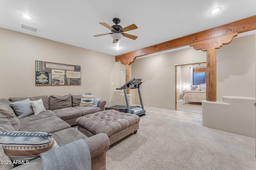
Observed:
[[[255,97],[255,34],[235,38],[216,51],[217,100],[222,96]]]

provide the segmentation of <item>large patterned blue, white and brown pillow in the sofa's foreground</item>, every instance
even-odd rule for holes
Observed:
[[[42,152],[58,147],[52,134],[43,132],[11,131],[0,133],[4,153],[11,160],[33,160]]]

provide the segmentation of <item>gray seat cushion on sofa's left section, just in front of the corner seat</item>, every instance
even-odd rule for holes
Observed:
[[[20,131],[29,132],[54,133],[67,128],[70,128],[70,125],[57,116],[44,117],[42,119],[20,123]]]

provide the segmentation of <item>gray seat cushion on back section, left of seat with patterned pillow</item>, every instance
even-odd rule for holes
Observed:
[[[62,120],[69,120],[82,116],[82,111],[74,107],[66,107],[62,109],[55,109],[52,111],[54,111],[54,113],[56,113],[56,115]]]

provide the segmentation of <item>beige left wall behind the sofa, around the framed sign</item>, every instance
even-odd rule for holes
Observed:
[[[3,28],[0,37],[0,98],[92,92],[107,106],[114,104],[115,85],[125,69],[114,56]],[[81,85],[35,86],[35,60],[81,66]]]

